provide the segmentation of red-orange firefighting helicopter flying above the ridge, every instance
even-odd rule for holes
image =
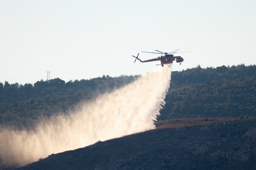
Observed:
[[[179,49],[178,49],[178,50],[179,50]],[[184,61],[184,59],[183,59],[182,57],[180,57],[180,56],[174,56],[174,55],[173,55],[174,53],[177,53],[178,50],[175,50],[176,52],[175,52],[175,51],[172,51],[172,52],[169,52],[169,53],[166,53],[166,52],[163,53],[162,51],[158,51],[158,50],[155,50],[155,51],[157,51],[157,52],[141,51],[141,52],[143,52],[143,53],[164,54],[164,55],[161,55],[160,57],[157,57],[157,58],[154,58],[154,59],[147,59],[147,60],[144,60],[144,61],[141,60],[141,59],[139,59],[139,54],[140,54],[140,53],[138,53],[137,57],[135,57],[135,56],[133,56],[133,55],[132,55],[132,57],[135,58],[134,63],[136,62],[137,59],[138,59],[140,62],[161,61],[161,64],[157,64],[157,65],[162,65],[162,67],[163,67],[164,64],[167,64],[167,65],[172,64],[172,62],[175,61],[175,60],[176,60],[176,62],[179,62],[180,64],[181,64],[181,62]],[[188,52],[188,51],[183,51],[183,52]],[[180,52],[180,53],[182,53],[182,52]]]

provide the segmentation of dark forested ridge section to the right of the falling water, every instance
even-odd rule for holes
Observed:
[[[256,65],[172,72],[158,119],[256,116]]]

